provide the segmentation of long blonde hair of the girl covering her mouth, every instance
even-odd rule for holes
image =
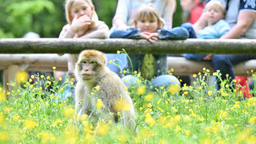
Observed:
[[[65,14],[66,14],[66,21],[71,24],[72,19],[70,19],[70,9],[71,6],[74,4],[74,2],[77,0],[66,0],[65,1]],[[93,2],[91,0],[83,0],[85,1],[89,6],[94,6]],[[98,25],[98,15],[94,9],[92,15],[91,15],[91,26],[90,28],[94,28]]]

